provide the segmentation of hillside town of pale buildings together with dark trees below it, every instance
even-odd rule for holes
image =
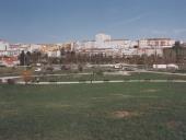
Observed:
[[[130,40],[114,39],[111,35],[97,34],[93,40],[61,44],[11,44],[0,40],[0,65],[7,67],[38,62],[126,62],[148,66],[176,63],[184,68],[185,60],[186,44],[172,38]]]

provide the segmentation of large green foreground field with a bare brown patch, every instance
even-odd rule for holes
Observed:
[[[0,85],[0,140],[185,139],[185,83]]]

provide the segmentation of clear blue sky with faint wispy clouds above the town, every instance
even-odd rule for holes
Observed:
[[[0,38],[62,43],[171,37],[186,40],[186,0],[0,0]]]

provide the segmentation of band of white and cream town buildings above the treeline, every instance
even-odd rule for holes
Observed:
[[[176,40],[172,38],[113,39],[107,34],[96,34],[93,40],[59,44],[10,44],[0,40],[0,56],[19,56],[22,50],[25,50],[30,52],[42,51],[49,57],[60,57],[61,49],[82,54],[107,54],[108,56],[141,56],[142,54],[148,54],[149,56],[158,54],[162,56],[163,49],[172,48],[175,43]],[[182,44],[185,45],[183,42]]]

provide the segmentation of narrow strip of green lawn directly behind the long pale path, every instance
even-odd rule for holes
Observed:
[[[123,74],[77,74],[71,73],[67,75],[57,77],[40,77],[40,82],[67,82],[67,81],[112,81],[112,80],[186,80],[186,75],[171,75],[164,73],[138,73],[132,72],[130,75]]]

